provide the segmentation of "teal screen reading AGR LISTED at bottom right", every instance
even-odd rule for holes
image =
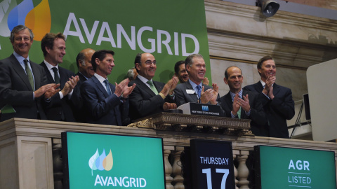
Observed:
[[[259,146],[262,189],[336,188],[335,153]]]

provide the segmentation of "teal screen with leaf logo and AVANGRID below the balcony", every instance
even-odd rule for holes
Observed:
[[[70,188],[165,188],[162,139],[66,132],[62,148]]]

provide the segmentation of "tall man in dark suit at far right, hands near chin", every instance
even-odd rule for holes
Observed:
[[[295,115],[291,90],[275,83],[276,65],[272,57],[265,56],[258,61],[258,73],[261,80],[244,89],[259,93],[267,118],[265,127],[269,129],[269,137],[289,139],[286,120]]]

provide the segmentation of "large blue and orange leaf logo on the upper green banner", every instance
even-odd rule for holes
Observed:
[[[2,12],[4,11],[4,12]],[[41,41],[51,31],[51,9],[48,0],[34,7],[33,0],[4,0],[0,3],[0,36],[10,36],[17,25],[25,25],[32,29],[34,40]],[[0,48],[1,49],[1,48]]]

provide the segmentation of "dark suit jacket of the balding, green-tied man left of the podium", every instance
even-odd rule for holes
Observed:
[[[160,113],[163,111],[164,102],[170,102],[169,97],[166,97],[164,100],[159,94],[154,94],[150,87],[147,87],[140,78],[137,77],[135,80],[128,83],[128,85],[131,86],[133,83],[136,83],[136,87],[128,96],[130,101],[129,116],[131,120],[150,116],[154,113]],[[161,92],[165,85],[164,83],[154,80],[153,84],[158,92]]]

